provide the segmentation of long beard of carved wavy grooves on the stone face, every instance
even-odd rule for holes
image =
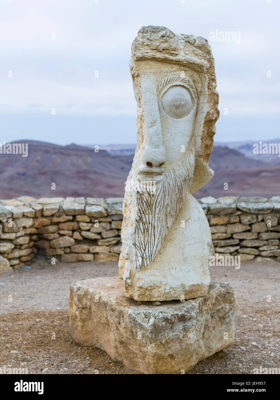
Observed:
[[[133,245],[136,270],[149,265],[189,192],[195,166],[194,139],[179,165],[166,169],[157,188],[137,191],[137,216]]]

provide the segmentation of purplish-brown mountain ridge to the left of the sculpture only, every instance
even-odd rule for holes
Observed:
[[[28,157],[0,154],[0,198],[26,194],[42,196],[122,196],[131,156],[111,156],[107,151],[70,144],[60,146],[32,140]],[[56,190],[51,184],[56,183]]]

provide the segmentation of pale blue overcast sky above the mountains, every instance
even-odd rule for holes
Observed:
[[[216,141],[280,136],[279,0],[95,1],[0,1],[0,143],[136,142],[129,57],[147,25],[209,40]],[[216,30],[240,32],[240,44],[210,41]]]

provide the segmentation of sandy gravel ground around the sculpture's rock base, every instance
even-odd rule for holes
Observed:
[[[70,284],[117,276],[117,262],[51,266],[36,261],[31,267],[0,274],[0,367],[28,368],[29,374],[134,374],[103,350],[77,346],[68,329]],[[252,374],[259,366],[280,368],[280,263],[253,260],[243,262],[239,270],[212,267],[211,278],[234,288],[236,339],[189,374]]]

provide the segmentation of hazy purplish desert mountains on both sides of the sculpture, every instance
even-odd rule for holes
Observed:
[[[134,145],[79,146],[17,140],[27,143],[28,156],[0,154],[0,198],[29,195],[35,198],[54,196],[120,197],[134,156]],[[135,145],[136,146],[136,145]],[[111,153],[109,153],[109,150]],[[128,152],[128,154],[127,154]],[[248,158],[226,146],[214,146],[209,166],[214,170],[210,182],[194,194],[220,197],[279,195],[280,164],[268,164]],[[228,190],[224,190],[224,183]],[[56,190],[51,189],[52,183]]]

